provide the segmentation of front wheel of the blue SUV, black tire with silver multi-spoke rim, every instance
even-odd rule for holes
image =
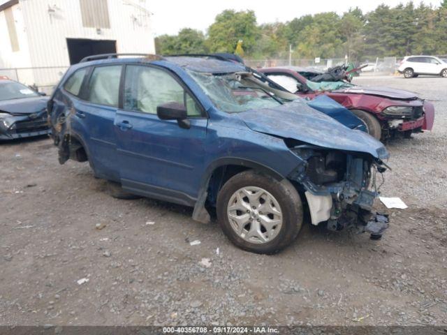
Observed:
[[[248,170],[230,178],[217,196],[219,225],[236,246],[253,253],[277,253],[302,226],[300,195],[287,179]]]

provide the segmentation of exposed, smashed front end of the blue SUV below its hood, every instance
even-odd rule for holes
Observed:
[[[360,232],[369,232],[372,238],[379,238],[388,228],[388,216],[374,210],[374,199],[379,191],[376,187],[376,174],[386,170],[380,159],[367,158],[364,155],[343,154],[344,159],[336,161],[335,169],[344,169],[343,177],[337,181],[317,184],[309,175],[309,158],[315,156],[312,148],[302,146],[293,149],[302,160],[288,178],[304,187],[307,204],[313,225],[327,223],[328,230],[342,230],[355,227]],[[316,173],[330,176],[330,169],[325,166],[324,156],[317,158],[322,166]],[[326,156],[327,157],[327,156]],[[346,164],[346,165],[345,165]],[[333,173],[332,173],[333,175]]]

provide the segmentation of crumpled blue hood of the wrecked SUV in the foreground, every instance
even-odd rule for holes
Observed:
[[[237,114],[259,133],[293,138],[318,147],[358,151],[375,158],[389,157],[383,144],[362,131],[353,131],[300,100],[279,107],[249,110]]]

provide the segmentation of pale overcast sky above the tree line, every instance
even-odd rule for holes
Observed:
[[[147,8],[154,13],[152,29],[156,36],[177,34],[182,28],[203,32],[214,22],[214,17],[225,9],[254,10],[258,23],[286,22],[306,14],[335,11],[342,14],[350,7],[360,7],[363,12],[374,10],[379,3],[396,6],[407,0],[147,0]],[[415,0],[439,6],[441,0]]]

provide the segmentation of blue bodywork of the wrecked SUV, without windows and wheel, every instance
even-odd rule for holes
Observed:
[[[122,101],[118,107],[98,106],[64,90],[75,70],[105,64],[168,70],[200,102],[204,116],[189,119],[189,128],[182,128],[156,114],[124,110]],[[227,167],[255,169],[288,179],[303,197],[307,191],[332,198],[330,227],[366,224],[360,216],[372,211],[377,195],[368,191],[369,177],[386,170],[382,160],[389,156],[381,142],[300,99],[267,109],[223,112],[191,70],[209,75],[247,72],[240,64],[194,57],[107,59],[70,68],[48,104],[59,161],[88,160],[97,177],[117,181],[131,193],[194,207],[198,221],[210,218],[205,204],[215,204],[223,182],[219,173]],[[346,210],[357,216],[345,219]]]

